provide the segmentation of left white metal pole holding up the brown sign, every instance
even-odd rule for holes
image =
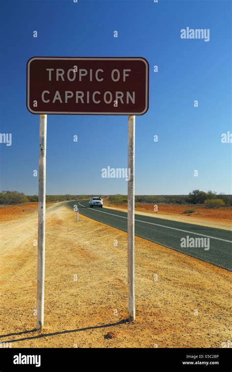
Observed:
[[[46,210],[46,115],[40,115],[37,329],[44,328],[45,210]]]

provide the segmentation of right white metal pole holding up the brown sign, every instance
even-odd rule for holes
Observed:
[[[130,173],[129,173],[130,171]],[[128,117],[127,284],[129,320],[135,320],[135,115]]]

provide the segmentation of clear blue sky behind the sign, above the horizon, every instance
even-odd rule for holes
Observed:
[[[232,132],[231,7],[225,0],[1,1],[0,133],[12,133],[12,145],[0,143],[0,189],[38,193],[39,116],[25,102],[30,57],[141,56],[150,65],[150,99],[136,116],[136,194],[231,193],[232,144],[221,142]],[[209,28],[209,42],[181,39],[187,26]],[[102,178],[101,169],[127,167],[127,131],[127,116],[47,116],[46,194],[126,194],[127,182]]]

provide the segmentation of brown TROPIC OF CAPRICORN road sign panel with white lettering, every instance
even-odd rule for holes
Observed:
[[[141,57],[33,57],[26,105],[32,114],[143,115],[148,80]]]

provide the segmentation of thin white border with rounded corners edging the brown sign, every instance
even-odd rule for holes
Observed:
[[[146,103],[146,107],[145,109],[140,112],[140,113],[112,113],[112,112],[107,112],[107,113],[88,113],[88,112],[53,112],[53,111],[46,111],[46,112],[38,112],[38,111],[33,111],[30,106],[29,106],[29,103],[30,103],[30,97],[29,97],[29,84],[30,84],[30,75],[29,75],[29,71],[30,71],[30,63],[34,60],[126,60],[126,61],[142,61],[145,63],[146,65],[146,82],[145,82],[145,89],[146,89],[146,97],[145,97],[145,103]],[[27,110],[31,113],[31,114],[34,114],[34,115],[42,115],[42,114],[47,114],[47,115],[113,115],[113,116],[117,116],[117,115],[144,115],[148,109],[149,109],[149,63],[148,61],[143,58],[143,57],[31,57],[27,63],[26,63],[26,108]]]

